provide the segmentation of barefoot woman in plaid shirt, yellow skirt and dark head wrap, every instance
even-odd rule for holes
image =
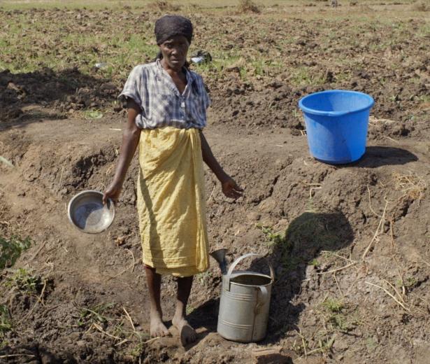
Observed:
[[[192,23],[165,15],[155,23],[159,55],[131,71],[120,97],[127,99],[127,126],[115,176],[103,200],[120,196],[139,144],[138,216],[150,294],[150,333],[168,335],[160,304],[161,274],[178,277],[173,325],[182,344],[196,339],[185,312],[194,274],[208,269],[203,161],[227,197],[242,189],[224,172],[203,135],[210,104],[203,80],[186,68]]]

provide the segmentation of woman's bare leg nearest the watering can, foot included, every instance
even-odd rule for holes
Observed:
[[[187,302],[191,292],[192,280],[194,276],[178,278],[178,294],[176,296],[176,311],[172,323],[180,332],[182,345],[186,345],[196,340],[196,332],[185,319],[187,312]]]

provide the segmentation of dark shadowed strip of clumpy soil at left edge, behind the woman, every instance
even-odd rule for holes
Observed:
[[[65,118],[71,110],[101,109],[120,90],[106,78],[78,69],[43,68],[0,72],[0,124],[26,125],[42,118]],[[54,109],[54,110],[52,110]]]

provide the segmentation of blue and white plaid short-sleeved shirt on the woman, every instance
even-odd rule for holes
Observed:
[[[180,129],[206,126],[206,109],[210,105],[203,79],[186,71],[187,86],[182,94],[160,61],[140,64],[131,71],[119,99],[128,97],[141,106],[136,125],[141,129],[173,126]]]

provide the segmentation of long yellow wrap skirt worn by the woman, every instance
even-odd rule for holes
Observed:
[[[199,130],[142,130],[139,165],[143,263],[173,276],[206,271],[208,234]]]

